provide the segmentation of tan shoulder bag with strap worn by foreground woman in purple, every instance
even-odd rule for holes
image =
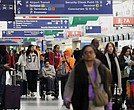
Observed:
[[[91,75],[89,74],[89,79],[92,83],[93,90],[94,90],[94,104],[95,106],[105,106],[108,104],[108,94],[102,90],[100,87],[97,87],[93,79],[91,78]]]

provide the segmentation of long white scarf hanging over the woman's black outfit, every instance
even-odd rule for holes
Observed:
[[[110,69],[110,71],[111,71],[111,62],[110,62],[108,53],[106,53],[105,56],[106,56],[106,59],[107,59],[107,62],[108,62],[109,69]],[[119,62],[118,62],[117,57],[114,57],[114,60],[115,60],[116,67],[117,67],[118,87],[119,87],[119,88],[122,88],[122,86],[121,86],[121,71],[120,71]]]

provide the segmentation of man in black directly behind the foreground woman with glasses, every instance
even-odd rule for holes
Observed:
[[[99,40],[93,39],[91,42],[91,45],[93,45],[96,48],[96,58],[99,59],[106,67],[108,67],[107,60],[105,55],[98,49],[99,48]]]

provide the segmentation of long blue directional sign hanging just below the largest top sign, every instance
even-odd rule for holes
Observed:
[[[68,19],[18,19],[8,21],[8,29],[67,29],[69,27]]]

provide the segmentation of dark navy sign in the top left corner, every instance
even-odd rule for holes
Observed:
[[[14,18],[14,0],[0,0],[0,21],[13,21]]]

